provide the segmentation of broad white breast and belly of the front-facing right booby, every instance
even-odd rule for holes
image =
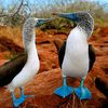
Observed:
[[[63,62],[63,75],[85,77],[89,70],[89,45],[86,35],[80,28],[71,30],[67,39],[66,53]]]

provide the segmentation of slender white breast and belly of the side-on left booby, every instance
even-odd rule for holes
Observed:
[[[22,71],[8,85],[10,91],[13,91],[15,87],[25,85],[35,77],[39,70],[40,63],[35,43],[29,43],[28,49],[29,52],[27,63],[25,64]]]

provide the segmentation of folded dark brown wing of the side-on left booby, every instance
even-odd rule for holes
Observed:
[[[27,62],[27,54],[19,54],[15,58],[0,66],[0,86],[9,84],[19,73]]]

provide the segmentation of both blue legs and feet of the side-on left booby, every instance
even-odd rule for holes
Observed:
[[[21,97],[16,98],[14,92],[11,92],[14,108],[19,107],[19,105],[22,105],[27,97],[33,97],[33,95],[24,95],[24,87],[21,87]]]

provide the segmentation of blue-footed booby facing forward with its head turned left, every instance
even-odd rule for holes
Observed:
[[[66,97],[75,91],[80,99],[89,99],[92,95],[83,83],[87,72],[92,69],[95,62],[95,53],[92,45],[86,41],[86,38],[93,32],[93,17],[87,12],[53,14],[73,21],[76,24],[76,27],[70,31],[58,53],[64,81],[63,86],[56,89],[54,93],[62,97]],[[66,77],[80,77],[80,86],[77,89],[68,86]]]

